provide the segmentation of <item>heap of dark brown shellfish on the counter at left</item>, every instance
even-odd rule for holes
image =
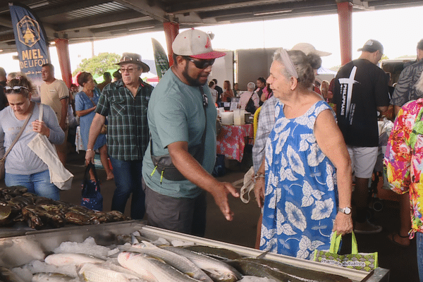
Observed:
[[[0,188],[0,227],[27,222],[30,228],[60,228],[67,223],[78,225],[125,221],[128,217],[118,211],[98,212],[86,207],[27,192],[27,188],[14,186]]]

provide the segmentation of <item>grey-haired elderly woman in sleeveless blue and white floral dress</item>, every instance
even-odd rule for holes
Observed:
[[[331,107],[310,90],[314,56],[274,54],[267,82],[279,101],[255,186],[260,249],[302,259],[329,250],[333,231],[353,230],[350,157]]]

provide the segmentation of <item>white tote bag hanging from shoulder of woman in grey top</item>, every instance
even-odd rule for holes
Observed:
[[[39,121],[42,121],[42,104],[39,104]],[[29,142],[28,147],[49,166],[50,183],[54,183],[60,190],[71,189],[73,174],[61,163],[56,147],[52,145],[46,135],[40,133]]]

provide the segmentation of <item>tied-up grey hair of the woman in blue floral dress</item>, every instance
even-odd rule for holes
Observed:
[[[314,82],[314,67],[317,66],[316,61],[320,59],[320,57],[316,54],[304,54],[304,52],[300,50],[290,50],[286,51],[283,49],[278,49],[275,51],[273,60],[282,63],[285,68],[283,69],[283,75],[286,78],[290,78],[292,75],[288,72],[288,67],[283,60],[283,52],[288,53],[290,61],[293,63],[296,73],[298,74],[298,84],[302,85],[302,87],[309,88],[313,85]]]

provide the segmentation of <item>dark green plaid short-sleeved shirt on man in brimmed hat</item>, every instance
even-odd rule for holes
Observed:
[[[147,106],[153,87],[140,79],[137,95],[122,80],[104,87],[96,113],[106,116],[109,156],[121,161],[142,160],[149,142]]]

